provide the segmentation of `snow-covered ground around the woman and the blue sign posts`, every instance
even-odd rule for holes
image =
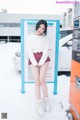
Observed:
[[[26,84],[21,93],[21,74],[13,68],[12,57],[19,50],[18,43],[0,44],[0,119],[7,113],[7,120],[68,120],[70,77],[58,76],[58,94],[53,94],[53,84],[47,84],[52,111],[40,118],[35,111],[35,84]]]

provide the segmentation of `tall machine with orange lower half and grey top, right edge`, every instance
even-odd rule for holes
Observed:
[[[71,63],[70,110],[74,120],[80,120],[80,17],[74,19]]]

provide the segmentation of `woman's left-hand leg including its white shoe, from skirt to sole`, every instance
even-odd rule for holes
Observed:
[[[35,94],[36,94],[36,111],[38,115],[44,116],[44,109],[41,100],[41,91],[40,91],[40,67],[31,65],[32,73],[35,81]]]

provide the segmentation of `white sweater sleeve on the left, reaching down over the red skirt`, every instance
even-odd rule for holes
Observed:
[[[38,63],[37,63],[37,61],[36,61],[36,59],[35,59],[35,57],[34,57],[34,54],[33,54],[33,51],[32,51],[32,49],[31,49],[30,44],[27,44],[27,54],[28,54],[28,57],[29,57],[32,65],[33,65],[33,66],[36,66]]]

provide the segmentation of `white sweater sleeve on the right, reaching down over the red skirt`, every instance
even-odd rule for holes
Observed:
[[[43,55],[42,58],[39,61],[39,65],[43,65],[48,57],[48,49],[49,49],[49,44],[47,43],[44,50],[43,50]]]

